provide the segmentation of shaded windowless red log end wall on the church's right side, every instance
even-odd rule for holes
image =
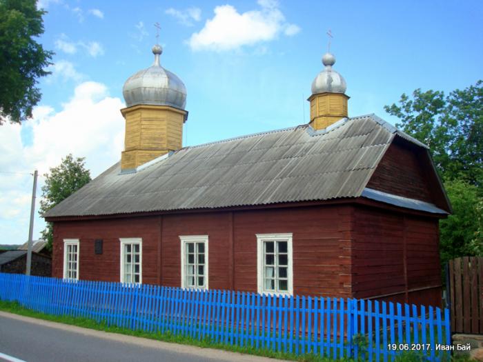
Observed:
[[[353,296],[441,304],[438,219],[355,208]]]

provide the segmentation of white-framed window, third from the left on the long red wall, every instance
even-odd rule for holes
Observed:
[[[180,236],[181,288],[208,289],[208,235]]]

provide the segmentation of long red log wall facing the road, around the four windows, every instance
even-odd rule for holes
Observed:
[[[295,294],[351,296],[352,210],[329,205],[56,222],[52,275],[63,273],[63,239],[80,239],[80,279],[119,281],[119,238],[141,237],[143,282],[179,286],[179,236],[208,234],[209,287],[256,292],[255,234],[292,232]],[[103,239],[101,255],[95,239]]]

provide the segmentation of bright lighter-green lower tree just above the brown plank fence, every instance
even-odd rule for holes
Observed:
[[[444,183],[453,214],[440,221],[441,262],[482,254],[483,199],[475,185],[455,179]]]

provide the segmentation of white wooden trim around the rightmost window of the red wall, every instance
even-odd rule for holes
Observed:
[[[292,233],[281,234],[255,234],[257,236],[257,287],[259,294],[272,294],[272,295],[293,295],[293,252],[292,252]],[[286,292],[271,292],[264,290],[264,241],[287,241],[287,291]]]

